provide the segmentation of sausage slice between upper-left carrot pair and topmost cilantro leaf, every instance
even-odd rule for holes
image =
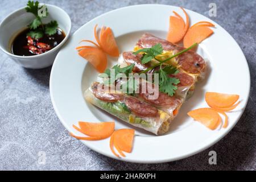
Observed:
[[[148,68],[147,64],[141,63],[141,54],[134,55],[133,52],[123,52],[123,59],[127,64],[134,64],[133,72],[141,72]]]

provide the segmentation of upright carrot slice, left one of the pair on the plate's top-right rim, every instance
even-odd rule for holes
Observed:
[[[180,40],[183,39],[185,33],[188,30],[188,26],[189,26],[188,14],[182,7],[180,8],[183,10],[186,16],[186,23],[184,22],[183,18],[179,14],[173,11],[176,16],[170,16],[169,31],[167,35],[167,40],[171,43],[180,42]]]

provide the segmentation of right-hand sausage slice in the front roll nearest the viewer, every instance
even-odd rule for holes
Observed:
[[[158,109],[146,104],[145,102],[139,101],[134,97],[127,97],[125,99],[126,106],[133,111],[136,115],[141,117],[157,117]]]

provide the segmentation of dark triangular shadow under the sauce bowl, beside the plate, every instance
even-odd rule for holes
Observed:
[[[52,67],[47,67],[43,69],[29,69],[23,68],[29,76],[33,77],[38,84],[49,87],[49,77],[51,75]]]

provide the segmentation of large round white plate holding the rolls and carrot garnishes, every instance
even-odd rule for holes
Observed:
[[[94,40],[93,27],[98,24],[111,27],[119,51],[131,51],[144,32],[166,38],[169,16],[172,11],[184,15],[179,7],[167,5],[138,5],[110,11],[90,20],[75,32],[57,55],[52,67],[50,93],[57,116],[69,132],[81,135],[72,125],[78,121],[115,121],[115,129],[131,126],[112,117],[105,111],[86,103],[82,94],[97,78],[96,70],[77,54],[76,47],[82,39]],[[109,138],[99,141],[84,141],[86,146],[103,155],[136,163],[162,163],[187,158],[212,146],[236,125],[247,104],[250,90],[249,68],[236,41],[217,23],[209,18],[186,10],[191,24],[209,21],[216,25],[214,34],[204,40],[197,52],[209,60],[208,75],[196,85],[193,96],[184,103],[179,115],[171,124],[170,131],[155,136],[135,129],[134,147],[125,158],[116,158],[109,148]],[[184,16],[183,16],[184,17]],[[117,63],[117,58],[108,57],[109,65]],[[189,118],[187,112],[199,107],[207,107],[205,92],[239,94],[242,100],[237,109],[228,113],[229,125],[226,129],[209,130],[199,122]],[[134,128],[134,127],[131,127]]]

